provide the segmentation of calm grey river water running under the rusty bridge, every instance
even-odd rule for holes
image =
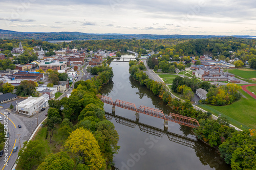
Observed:
[[[122,55],[122,57],[133,57]],[[113,82],[105,85],[102,95],[147,106],[169,113],[172,110],[146,87],[129,78],[129,62],[112,62]],[[104,104],[106,112],[112,106]],[[115,116],[106,114],[119,134],[119,153],[114,162],[117,169],[231,169],[216,150],[208,147],[191,133],[191,128],[168,123],[164,131],[163,119],[116,107]]]

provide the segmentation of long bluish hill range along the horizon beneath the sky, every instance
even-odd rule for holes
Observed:
[[[225,36],[215,35],[156,35],[156,34],[87,34],[80,32],[17,32],[0,29],[0,38],[7,39],[36,39],[44,41],[61,40],[100,40],[100,39],[166,39],[166,38],[220,38]],[[233,36],[237,38],[252,38],[252,36]],[[255,37],[255,36],[254,36]]]

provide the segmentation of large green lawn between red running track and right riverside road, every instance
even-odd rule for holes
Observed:
[[[247,99],[242,97],[239,101],[226,106],[199,106],[216,116],[221,114],[227,117],[232,125],[240,129],[256,129],[256,100],[243,90],[240,90],[240,92],[245,95]]]

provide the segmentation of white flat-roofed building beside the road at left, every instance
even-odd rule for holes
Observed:
[[[32,116],[39,112],[43,107],[47,107],[47,102],[44,96],[40,96],[39,98],[29,97],[16,105],[16,111],[21,114]]]

